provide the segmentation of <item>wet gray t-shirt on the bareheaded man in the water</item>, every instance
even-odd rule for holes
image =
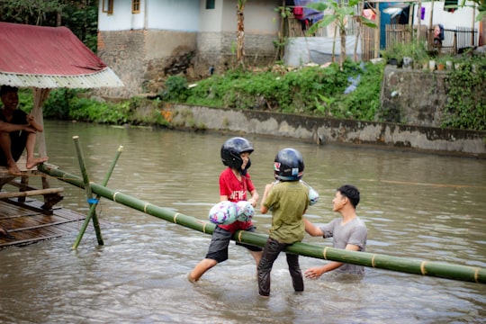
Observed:
[[[338,218],[326,225],[320,226],[320,229],[324,233],[324,238],[332,238],[333,247],[345,249],[348,244],[352,244],[358,246],[359,251],[365,252],[368,230],[366,229],[363,220],[356,217],[356,219],[347,222],[345,225],[343,225],[342,222],[343,219]],[[352,264],[344,264],[343,266],[339,266],[336,270],[348,274],[365,274],[364,266]]]

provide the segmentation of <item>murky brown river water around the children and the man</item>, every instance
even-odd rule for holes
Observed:
[[[125,129],[46,121],[49,162],[80,175],[72,137],[79,136],[91,181],[101,184],[123,146],[108,187],[207,220],[218,202],[220,145],[233,134]],[[273,160],[285,147],[305,160],[304,180],[320,193],[307,217],[339,215],[332,197],[355,184],[358,215],[368,228],[367,252],[486,267],[486,161],[410,151],[316,146],[248,136],[250,174],[260,194],[273,181]],[[65,188],[64,208],[86,213],[85,192]],[[197,284],[186,275],[211,237],[115,202],[101,200],[104,246],[86,231],[0,250],[2,323],[481,323],[486,285],[366,268],[361,280],[325,274],[293,293],[284,255],[272,272],[272,296],[257,293],[252,257],[232,243],[229,260]],[[257,213],[265,233],[270,216]],[[81,226],[81,223],[79,224]],[[304,242],[332,246],[331,239]],[[327,261],[301,257],[302,270]]]

